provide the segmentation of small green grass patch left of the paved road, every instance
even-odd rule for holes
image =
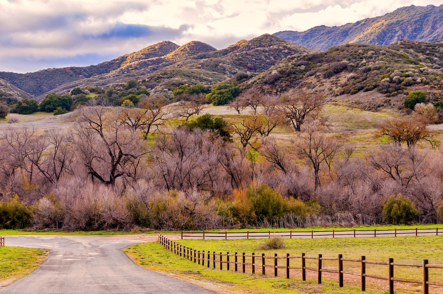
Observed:
[[[47,249],[0,247],[0,288],[34,271],[48,253]]]

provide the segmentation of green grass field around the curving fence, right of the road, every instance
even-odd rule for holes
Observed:
[[[286,248],[279,250],[263,250],[260,244],[264,239],[255,240],[179,240],[190,248],[197,248],[202,251],[245,252],[250,254],[264,253],[265,255],[300,255],[302,252],[308,256],[323,254],[323,257],[337,257],[342,254],[345,258],[360,258],[365,255],[368,260],[388,261],[393,258],[396,262],[416,262],[421,263],[423,259],[428,259],[429,263],[443,263],[443,236],[411,236],[411,237],[377,237],[377,238],[337,238],[337,239],[285,239]],[[291,271],[291,279],[284,278],[284,269],[279,270],[279,277],[263,277],[262,275],[251,275],[235,273],[233,271],[220,271],[208,269],[191,263],[187,259],[165,250],[158,243],[144,243],[132,245],[124,250],[136,263],[143,267],[174,273],[182,277],[196,280],[210,281],[226,287],[230,290],[240,290],[248,293],[360,293],[358,276],[345,275],[345,287],[339,288],[337,284],[337,274],[323,273],[323,284],[316,284],[316,272],[307,271],[307,282],[302,282],[299,270]],[[231,257],[233,259],[233,257]],[[250,262],[247,258],[246,262]],[[268,262],[271,262],[268,260]],[[280,262],[282,262],[280,264]],[[284,265],[280,260],[279,265]],[[260,262],[258,262],[260,263]],[[292,259],[291,266],[300,266],[300,259]],[[323,268],[336,268],[337,261],[323,261]],[[307,267],[316,267],[315,260],[307,260]],[[388,274],[388,267],[383,265],[366,265],[366,272],[369,274]],[[212,263],[211,263],[212,267]],[[216,264],[216,268],[218,268]],[[224,268],[225,265],[224,265]],[[231,265],[231,269],[233,265]],[[344,262],[344,269],[359,271],[359,263]],[[247,268],[246,272],[250,273]],[[268,273],[272,270],[267,268]],[[261,272],[260,267],[256,272]],[[395,267],[395,276],[410,279],[420,279],[421,269],[412,267]],[[430,269],[429,279],[435,281],[443,280],[443,270]],[[385,293],[385,285],[380,280],[367,279],[368,293]],[[415,293],[420,291],[419,285],[396,283],[396,293]],[[258,290],[261,289],[261,290]],[[443,288],[431,287],[431,292],[443,291]]]

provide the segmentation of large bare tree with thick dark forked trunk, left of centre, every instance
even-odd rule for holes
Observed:
[[[122,128],[118,116],[105,106],[82,108],[72,141],[91,179],[114,186],[120,177],[137,177],[147,154],[136,132]]]

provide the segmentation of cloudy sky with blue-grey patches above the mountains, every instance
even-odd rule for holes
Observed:
[[[88,66],[169,40],[217,49],[443,0],[0,0],[0,71]]]

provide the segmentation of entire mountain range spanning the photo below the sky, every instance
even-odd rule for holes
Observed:
[[[74,87],[106,90],[133,78],[151,94],[170,99],[175,86],[232,79],[243,89],[276,93],[303,87],[368,109],[393,105],[410,89],[426,88],[440,97],[443,43],[434,40],[443,39],[442,9],[409,6],[341,27],[265,34],[221,50],[199,41],[183,46],[163,41],[93,66],[0,72],[0,99],[41,100]]]

